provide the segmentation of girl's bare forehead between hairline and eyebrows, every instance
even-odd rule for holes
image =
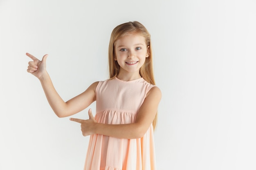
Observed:
[[[142,44],[146,46],[146,40],[143,36],[139,34],[129,34],[122,36],[115,42],[115,46],[126,46],[135,44]]]

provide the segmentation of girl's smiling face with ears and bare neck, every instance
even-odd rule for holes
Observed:
[[[115,43],[115,60],[120,66],[119,76],[126,74],[140,78],[139,69],[148,57],[145,38],[139,34],[129,34]]]

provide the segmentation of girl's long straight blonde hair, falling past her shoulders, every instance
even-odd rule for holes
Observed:
[[[153,58],[152,58],[152,48],[150,44],[150,34],[144,25],[138,21],[126,22],[116,26],[110,36],[110,42],[108,46],[108,64],[110,79],[113,79],[119,74],[120,66],[115,62],[115,42],[122,36],[129,34],[139,34],[145,38],[146,45],[148,46],[148,57],[146,57],[145,63],[141,66],[139,74],[148,83],[155,85],[155,78],[153,74]],[[155,129],[157,124],[157,113],[155,119],[152,122],[153,128]]]

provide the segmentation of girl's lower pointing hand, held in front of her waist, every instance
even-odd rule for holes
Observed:
[[[89,119],[87,120],[70,118],[71,121],[76,121],[81,124],[81,131],[83,136],[93,135],[95,125],[97,124],[97,121],[94,119],[92,115],[92,109],[89,109],[88,114]]]

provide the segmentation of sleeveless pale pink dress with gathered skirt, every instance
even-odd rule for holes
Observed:
[[[154,87],[143,78],[122,81],[115,77],[96,87],[95,119],[103,124],[134,123],[148,91]],[[84,170],[155,170],[152,124],[139,139],[91,135]]]

